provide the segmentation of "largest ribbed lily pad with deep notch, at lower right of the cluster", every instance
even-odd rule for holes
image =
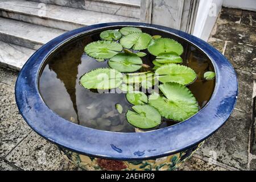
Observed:
[[[165,97],[153,93],[148,103],[167,119],[184,121],[199,110],[196,98],[184,85],[168,82],[159,86]]]

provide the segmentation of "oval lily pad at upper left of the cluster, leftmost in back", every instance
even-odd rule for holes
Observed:
[[[122,51],[122,46],[117,42],[99,40],[86,45],[84,51],[87,55],[96,59],[110,59]]]

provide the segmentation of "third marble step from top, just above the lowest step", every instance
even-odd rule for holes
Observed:
[[[35,50],[64,32],[55,28],[0,18],[0,41]]]

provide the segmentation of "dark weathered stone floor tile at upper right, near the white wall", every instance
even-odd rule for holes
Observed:
[[[255,45],[256,42],[256,27],[246,26],[233,22],[220,23],[213,38],[228,40],[235,43],[244,43]]]

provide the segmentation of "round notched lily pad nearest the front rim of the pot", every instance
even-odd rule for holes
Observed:
[[[134,111],[128,110],[127,121],[140,129],[151,129],[161,123],[161,115],[150,105],[135,105],[131,107]]]

